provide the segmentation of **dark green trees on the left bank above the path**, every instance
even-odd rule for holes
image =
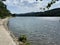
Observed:
[[[7,6],[0,1],[0,18],[6,18],[8,16],[11,16],[10,11],[7,9]]]

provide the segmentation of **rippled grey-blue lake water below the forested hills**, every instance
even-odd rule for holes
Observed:
[[[46,20],[42,17],[14,17],[9,20],[9,29],[16,37],[25,34],[31,45],[60,45],[58,20]]]

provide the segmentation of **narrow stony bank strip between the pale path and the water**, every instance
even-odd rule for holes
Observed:
[[[16,43],[16,45],[19,45],[18,42],[17,42],[17,38],[14,36],[13,32],[11,32],[11,31],[9,30],[9,26],[8,26],[8,24],[9,24],[9,19],[10,19],[9,17],[6,18],[6,20],[2,19],[2,20],[4,20],[3,26],[4,26],[4,28],[6,29],[6,31],[9,33],[9,35],[11,36],[11,38],[13,39],[13,41]]]

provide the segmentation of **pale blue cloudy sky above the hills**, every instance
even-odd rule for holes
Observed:
[[[46,5],[51,0],[6,0],[4,3],[7,5],[7,9],[10,10],[11,13],[28,13],[28,12],[40,12],[43,11],[40,8],[46,7]],[[60,8],[60,1],[57,1],[53,4],[50,9]],[[47,10],[47,9],[46,9]]]

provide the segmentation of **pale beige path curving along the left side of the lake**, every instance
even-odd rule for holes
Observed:
[[[3,22],[6,19],[0,19],[0,45],[16,45],[10,33],[5,29]]]

